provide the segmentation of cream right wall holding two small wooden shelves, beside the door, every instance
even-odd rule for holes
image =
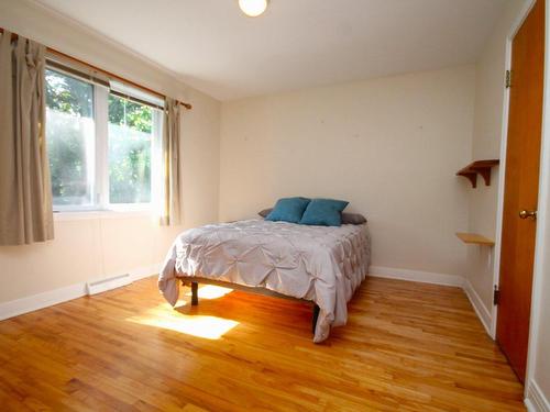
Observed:
[[[508,1],[476,64],[475,115],[472,159],[501,158],[506,40],[519,14],[524,0]],[[469,229],[495,240],[497,222],[498,179],[501,168],[492,170],[491,186],[479,179],[476,189],[469,191]],[[493,310],[494,248],[468,246],[466,279],[477,293],[491,325]]]

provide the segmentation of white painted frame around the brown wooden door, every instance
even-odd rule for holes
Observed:
[[[525,0],[519,15],[514,21],[510,32],[506,37],[505,70],[512,67],[512,44],[514,36],[524,23],[525,19],[535,5],[536,0]],[[544,232],[549,219],[550,208],[550,0],[546,1],[544,9],[544,80],[543,80],[543,101],[542,101],[542,136],[540,149],[540,174],[539,174],[539,196],[537,205],[537,231],[535,236],[535,261],[532,272],[532,292],[531,292],[531,314],[529,321],[529,343],[527,350],[527,371],[525,377],[525,397],[528,398],[534,378],[534,367],[536,365],[536,344],[540,316],[538,308],[542,301],[541,283],[544,269],[544,254],[550,253],[550,243],[544,241]],[[504,78],[504,73],[503,73]],[[501,246],[504,215],[504,189],[506,175],[506,146],[508,143],[508,111],[509,111],[509,89],[504,89],[503,119],[501,131],[501,166],[498,176],[498,200],[496,212],[496,240],[494,250],[493,286],[498,286],[501,278]],[[549,227],[550,229],[550,227]],[[550,261],[549,261],[550,264]],[[498,307],[493,305],[491,311],[491,336],[496,338],[496,322],[498,316]]]

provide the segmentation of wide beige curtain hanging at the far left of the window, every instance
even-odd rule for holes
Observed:
[[[45,142],[45,47],[0,34],[0,245],[54,237]]]

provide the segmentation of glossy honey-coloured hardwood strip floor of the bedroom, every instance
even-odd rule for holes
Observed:
[[[524,410],[458,288],[369,278],[321,345],[308,304],[201,294],[174,311],[148,278],[0,322],[1,410]]]

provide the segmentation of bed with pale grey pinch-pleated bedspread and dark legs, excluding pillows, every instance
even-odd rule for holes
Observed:
[[[210,224],[182,233],[158,278],[175,305],[179,281],[211,283],[314,304],[314,342],[344,325],[348,301],[365,279],[371,248],[366,223],[337,227],[266,220]]]

